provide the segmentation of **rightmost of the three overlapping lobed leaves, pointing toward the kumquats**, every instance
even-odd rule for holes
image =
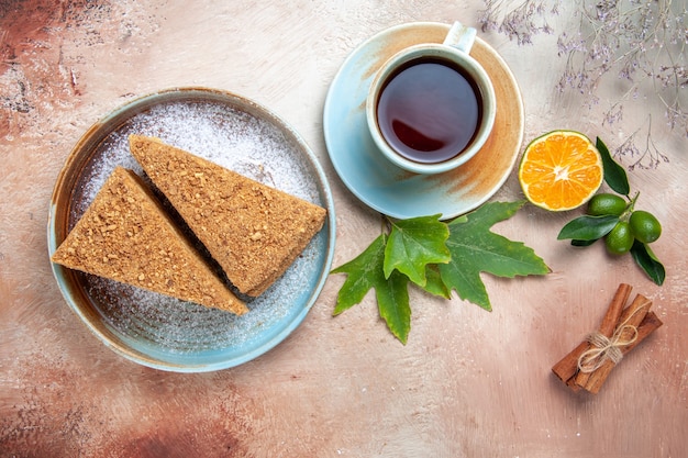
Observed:
[[[464,300],[491,310],[480,272],[508,278],[550,272],[550,268],[532,248],[490,232],[492,225],[513,216],[524,203],[486,203],[466,217],[448,224],[447,247],[452,260],[439,266],[447,289],[456,290]]]

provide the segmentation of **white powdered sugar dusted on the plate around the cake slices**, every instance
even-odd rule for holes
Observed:
[[[156,367],[211,370],[267,351],[300,324],[330,269],[333,208],[315,159],[274,115],[244,99],[225,99],[215,92],[208,98],[202,91],[162,98],[143,111],[137,108],[129,113],[125,108],[118,116],[124,121],[89,152],[90,159],[75,187],[70,227],[116,166],[143,176],[129,152],[129,135],[134,133],[159,137],[328,209],[323,230],[287,272],[260,297],[242,298],[249,308],[242,316],[79,273],[107,327],[135,353],[160,361]]]

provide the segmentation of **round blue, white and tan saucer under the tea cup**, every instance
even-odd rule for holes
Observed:
[[[323,114],[330,159],[346,187],[368,206],[396,219],[469,212],[499,190],[511,172],[523,141],[523,102],[501,56],[476,38],[470,55],[486,69],[497,96],[495,127],[482,149],[459,168],[415,175],[385,159],[367,131],[365,101],[375,72],[398,51],[442,42],[450,24],[418,22],[387,29],[346,58],[335,76]]]

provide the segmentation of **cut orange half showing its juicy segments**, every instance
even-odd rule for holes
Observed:
[[[602,157],[592,142],[573,131],[554,131],[532,141],[519,166],[525,198],[551,211],[586,203],[604,177]]]

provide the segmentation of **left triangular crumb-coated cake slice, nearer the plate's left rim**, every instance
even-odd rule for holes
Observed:
[[[131,170],[116,167],[52,260],[241,315],[232,293]]]

